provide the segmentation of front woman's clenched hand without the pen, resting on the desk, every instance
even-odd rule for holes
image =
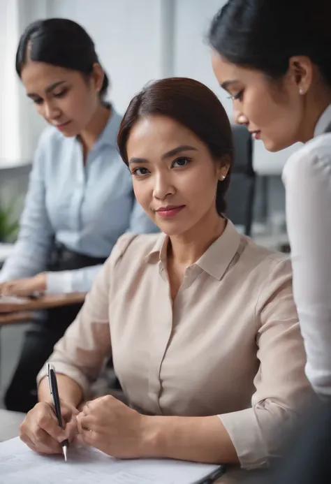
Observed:
[[[147,418],[106,395],[84,405],[77,416],[78,432],[84,443],[112,457],[140,458]]]

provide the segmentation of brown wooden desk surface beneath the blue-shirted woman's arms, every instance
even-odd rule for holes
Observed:
[[[20,304],[15,302],[0,302],[0,314],[79,304],[84,302],[85,296],[86,293],[49,294],[43,295],[38,299],[22,298],[22,303]]]

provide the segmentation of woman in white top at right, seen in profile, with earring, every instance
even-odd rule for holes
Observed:
[[[331,3],[230,0],[209,31],[235,122],[276,152],[283,173],[293,292],[317,393],[331,395]]]

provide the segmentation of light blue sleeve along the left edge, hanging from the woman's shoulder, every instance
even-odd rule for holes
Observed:
[[[0,282],[31,277],[45,270],[54,237],[45,204],[45,142],[38,143],[17,242],[0,272]]]

